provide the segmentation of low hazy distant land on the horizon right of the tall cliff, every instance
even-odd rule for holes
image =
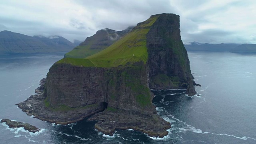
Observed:
[[[234,52],[244,54],[256,54],[256,44],[208,44],[190,42],[184,44],[187,51],[206,51],[206,52]]]

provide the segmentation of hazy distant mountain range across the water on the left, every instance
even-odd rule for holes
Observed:
[[[0,55],[68,52],[75,46],[62,36],[27,36],[6,30],[0,32]]]

